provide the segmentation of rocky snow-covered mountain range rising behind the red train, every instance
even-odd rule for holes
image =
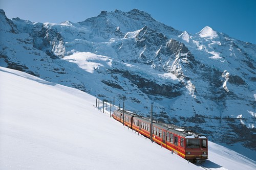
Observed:
[[[1,66],[124,101],[144,116],[153,102],[155,119],[255,153],[255,44],[207,26],[181,32],[137,9],[60,24],[0,10],[0,35]]]

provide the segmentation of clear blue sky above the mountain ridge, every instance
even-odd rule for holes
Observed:
[[[10,19],[53,23],[83,21],[103,10],[137,8],[180,31],[195,34],[209,26],[256,44],[256,0],[0,0],[0,8]]]

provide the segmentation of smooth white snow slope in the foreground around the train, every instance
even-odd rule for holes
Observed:
[[[87,93],[0,67],[0,169],[202,169],[103,114]],[[209,141],[211,169],[256,162]]]

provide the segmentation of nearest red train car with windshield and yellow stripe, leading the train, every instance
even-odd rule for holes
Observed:
[[[153,123],[153,140],[186,160],[199,162],[208,158],[206,136],[176,125]]]

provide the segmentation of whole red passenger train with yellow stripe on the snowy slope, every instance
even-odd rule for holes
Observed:
[[[115,110],[113,118],[140,134],[151,137],[150,119],[131,112]],[[205,161],[208,158],[208,140],[201,134],[189,133],[181,127],[153,122],[153,140],[162,147],[189,161]]]

